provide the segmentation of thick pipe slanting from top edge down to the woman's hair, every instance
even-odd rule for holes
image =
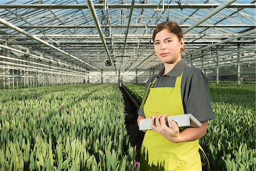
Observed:
[[[197,27],[199,24],[203,23],[205,20],[209,19],[211,16],[213,16],[214,14],[217,14],[217,12],[221,11],[222,9],[224,9],[225,7],[229,6],[230,3],[234,2],[236,0],[226,0],[224,1],[224,3],[221,3],[221,5],[219,5],[218,7],[216,7],[216,9],[214,9],[213,11],[211,11],[209,14],[205,15],[203,18],[201,18],[198,22],[192,24],[192,26],[188,27],[183,34],[186,34],[188,31],[192,30],[193,28]]]

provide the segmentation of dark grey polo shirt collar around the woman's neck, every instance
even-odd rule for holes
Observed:
[[[181,59],[177,64],[166,74],[166,76],[169,77],[179,77],[183,70],[187,67],[187,64],[185,63],[184,59]],[[164,66],[160,69],[158,73],[158,77],[162,76],[164,73]]]

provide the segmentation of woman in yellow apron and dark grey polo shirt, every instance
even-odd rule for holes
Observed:
[[[202,170],[199,139],[214,118],[209,88],[204,74],[181,59],[184,39],[176,22],[156,26],[155,53],[164,66],[146,84],[138,111],[139,120],[152,118],[152,130],[146,131],[142,143],[141,170]],[[202,123],[198,128],[179,128],[171,115],[193,114]],[[157,125],[157,126],[156,126]]]

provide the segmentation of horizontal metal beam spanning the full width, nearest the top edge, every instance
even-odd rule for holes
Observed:
[[[104,9],[104,4],[102,3],[96,3],[93,5],[94,9]],[[164,9],[166,8],[170,9],[180,9],[179,5],[176,3],[164,5]],[[197,4],[183,4],[183,9],[212,9],[220,6],[218,3],[197,3]],[[130,9],[131,4],[130,3],[124,3],[124,4],[109,4],[109,9],[120,9],[120,8],[126,8]],[[156,3],[146,3],[146,4],[135,4],[135,9],[156,9],[158,7],[158,4]],[[255,8],[255,4],[251,3],[235,3],[232,5],[226,6],[226,8]],[[1,4],[0,9],[88,9],[88,6],[85,4],[55,4],[55,3],[49,3],[49,4]]]

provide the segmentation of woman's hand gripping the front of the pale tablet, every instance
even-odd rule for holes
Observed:
[[[167,140],[172,141],[172,143],[180,142],[181,136],[179,127],[177,126],[174,120],[168,120],[172,127],[168,127],[166,124],[167,115],[152,115],[151,128],[153,131],[158,132],[159,134],[166,137]]]

